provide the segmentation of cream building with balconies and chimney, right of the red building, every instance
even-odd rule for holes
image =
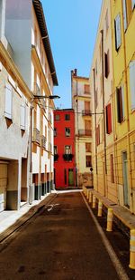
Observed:
[[[92,185],[91,93],[88,78],[71,71],[72,108],[75,111],[76,184]]]

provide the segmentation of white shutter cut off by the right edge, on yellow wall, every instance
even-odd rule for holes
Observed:
[[[130,62],[131,109],[135,109],[135,61]]]

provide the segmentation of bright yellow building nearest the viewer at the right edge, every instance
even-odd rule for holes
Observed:
[[[111,1],[118,203],[135,213],[135,1]]]

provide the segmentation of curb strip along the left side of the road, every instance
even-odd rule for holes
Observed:
[[[56,197],[57,194],[49,194],[49,196],[40,201],[38,205],[31,207],[27,213],[25,213],[22,217],[19,217],[18,220],[15,221],[12,226],[6,228],[4,232],[0,234],[0,243],[2,243],[7,237],[10,237],[14,233],[14,231],[22,227],[23,224],[30,220],[31,217],[38,214],[42,208],[47,206]]]

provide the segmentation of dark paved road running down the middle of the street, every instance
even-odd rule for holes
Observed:
[[[5,241],[0,280],[119,279],[81,193],[58,194],[53,205]]]

